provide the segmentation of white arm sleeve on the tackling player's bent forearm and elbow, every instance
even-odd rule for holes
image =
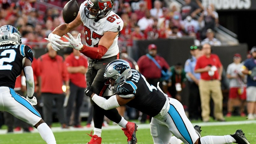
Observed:
[[[110,110],[120,106],[117,102],[115,95],[111,96],[108,100],[106,100],[105,98],[100,97],[97,94],[94,94],[92,100],[104,110]]]

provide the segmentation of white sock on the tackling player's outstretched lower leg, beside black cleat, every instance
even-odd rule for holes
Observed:
[[[230,135],[225,136],[204,136],[200,138],[201,144],[232,144],[236,140]]]

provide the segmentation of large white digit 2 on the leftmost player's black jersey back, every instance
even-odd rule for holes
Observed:
[[[0,70],[12,70],[12,65],[6,64],[4,65],[4,62],[11,63],[15,60],[16,52],[15,50],[4,50],[0,56],[6,56],[7,54],[10,54],[9,57],[3,57],[0,58]]]

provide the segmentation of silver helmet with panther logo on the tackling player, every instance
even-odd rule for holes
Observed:
[[[112,86],[120,84],[132,75],[130,64],[122,59],[113,60],[105,69],[104,78],[111,79]],[[109,85],[108,83],[105,83]]]

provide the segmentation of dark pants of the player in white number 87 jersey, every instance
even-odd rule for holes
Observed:
[[[111,61],[115,59],[119,59],[119,54],[108,58],[102,58],[100,60],[89,58],[89,65],[86,72],[86,82],[87,84],[88,82],[91,82],[93,92],[99,96],[102,96],[107,89],[107,85],[105,85],[107,79],[104,78],[105,68]]]

